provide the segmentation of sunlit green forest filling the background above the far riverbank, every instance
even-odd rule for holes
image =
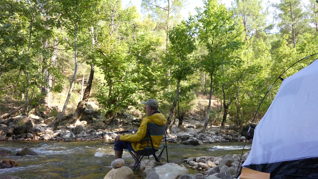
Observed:
[[[251,122],[272,83],[318,52],[318,3],[280,0],[269,22],[261,0],[227,8],[204,0],[182,19],[187,0],[142,0],[142,14],[121,0],[0,0],[1,118],[57,106],[80,118],[98,102],[105,118],[158,100],[168,124],[204,111],[208,124]],[[277,28],[277,32],[272,32]],[[290,68],[282,79],[315,56]],[[256,121],[273,101],[268,92]],[[197,103],[198,94],[208,97]],[[218,100],[218,108],[211,107]],[[11,107],[10,107],[11,106]],[[220,106],[220,107],[219,107]]]

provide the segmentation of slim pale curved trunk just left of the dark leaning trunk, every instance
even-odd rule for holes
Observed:
[[[67,94],[67,97],[66,97],[66,101],[65,101],[65,104],[63,106],[63,110],[59,116],[59,118],[62,118],[65,114],[65,111],[66,111],[66,107],[67,107],[67,104],[68,104],[68,101],[70,100],[70,97],[71,97],[71,94],[72,94],[72,90],[73,90],[73,87],[74,87],[74,82],[75,82],[75,78],[76,78],[76,74],[77,74],[77,25],[78,25],[78,19],[76,19],[76,24],[75,24],[75,37],[74,37],[74,57],[75,57],[75,70],[74,70],[74,75],[73,75],[73,79],[72,79],[72,82],[71,82],[71,85],[70,85],[70,89],[68,91],[68,94]]]

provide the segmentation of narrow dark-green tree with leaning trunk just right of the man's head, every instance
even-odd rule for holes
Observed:
[[[197,59],[189,56],[196,49],[194,34],[194,22],[191,16],[189,21],[182,21],[181,24],[176,25],[169,32],[170,46],[167,64],[171,76],[177,81],[177,84],[176,94],[167,119],[168,125],[171,124],[171,119],[175,113],[180,82],[187,80],[189,75],[192,75],[197,68]]]

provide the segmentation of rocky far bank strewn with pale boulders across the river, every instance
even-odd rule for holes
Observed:
[[[62,119],[48,117],[44,113],[20,115],[0,120],[0,140],[114,140],[117,134],[107,133],[138,129],[140,121],[141,119],[128,114],[103,121],[103,117],[91,109],[86,109],[85,115],[79,120],[74,120],[72,114]],[[202,133],[202,127],[201,123],[182,125],[180,128],[172,125],[167,140],[171,143],[194,146],[215,142],[245,142],[245,136],[241,136],[245,132],[244,128],[242,130],[236,126],[223,129],[210,127]],[[252,142],[252,139],[247,142]]]

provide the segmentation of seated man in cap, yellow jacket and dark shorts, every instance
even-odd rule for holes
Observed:
[[[130,149],[134,151],[142,150],[147,147],[147,141],[142,141],[142,139],[147,138],[147,124],[155,123],[157,125],[165,125],[167,123],[166,118],[163,114],[158,111],[158,102],[154,99],[149,99],[148,101],[143,101],[142,104],[146,104],[144,109],[146,110],[147,117],[143,118],[140,127],[136,134],[129,135],[117,135],[115,138],[115,158],[121,158],[123,149]],[[155,148],[159,148],[163,136],[152,137],[152,142]],[[139,158],[139,155],[135,153],[136,158]],[[132,166],[135,166],[136,162],[134,161]]]

